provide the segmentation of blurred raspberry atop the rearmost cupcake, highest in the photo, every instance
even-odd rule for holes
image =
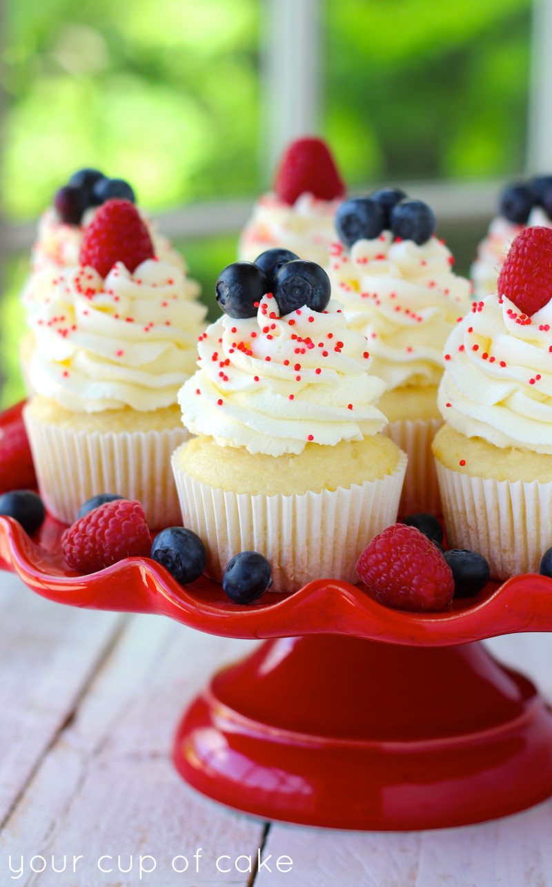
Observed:
[[[306,192],[321,200],[343,197],[345,184],[322,138],[298,138],[280,161],[274,190],[280,200],[292,206]]]

